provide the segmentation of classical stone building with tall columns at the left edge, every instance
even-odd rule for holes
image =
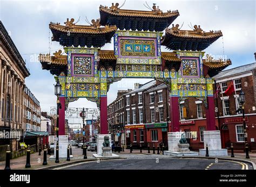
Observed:
[[[8,31],[0,21],[0,131],[12,132],[18,137],[1,137],[0,145],[11,145],[13,151],[19,149],[19,138],[23,136],[25,77],[30,75],[25,61],[19,54]]]

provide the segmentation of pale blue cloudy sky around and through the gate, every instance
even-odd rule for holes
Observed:
[[[42,70],[41,63],[37,60],[39,53],[54,53],[63,49],[56,41],[50,41],[51,32],[49,23],[61,24],[66,18],[80,17],[77,24],[87,25],[88,20],[99,18],[99,5],[111,6],[111,3],[122,1],[14,1],[0,0],[0,19],[9,32],[19,53],[26,61],[30,76],[25,79],[25,84],[41,103],[42,111],[50,112],[51,106],[56,106],[54,95],[55,80],[48,70]],[[221,30],[224,37],[219,38],[210,47],[205,49],[206,54],[223,55],[232,61],[228,68],[253,63],[255,44],[255,1],[183,1],[183,0],[148,0],[152,6],[157,3],[159,8],[178,10],[180,16],[173,24],[183,25],[181,30],[191,30],[189,25],[200,25],[204,31]],[[145,1],[126,0],[122,9],[148,10],[143,4]],[[102,49],[113,49],[113,42],[106,44]],[[167,51],[162,47],[162,51]],[[227,69],[228,69],[227,68]],[[134,83],[146,83],[151,79],[123,79],[110,85],[108,103],[117,97],[118,90],[133,89]],[[96,108],[96,104],[86,98],[80,98],[69,104],[69,107]]]

